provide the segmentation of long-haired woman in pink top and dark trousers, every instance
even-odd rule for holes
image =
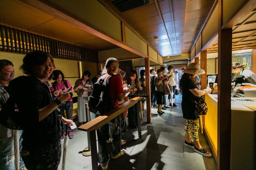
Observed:
[[[61,103],[61,105],[60,105],[60,112],[61,112],[62,116],[65,117],[65,114],[64,114],[64,110],[65,110],[66,115],[67,115],[67,119],[73,121],[72,93],[74,92],[74,89],[72,89],[71,83],[68,80],[65,80],[64,74],[60,70],[54,70],[53,71],[53,78],[52,79],[55,80],[55,82],[52,83],[51,90],[54,90],[54,94],[56,96],[59,96],[60,92],[67,93],[68,88],[71,89],[68,100]],[[63,125],[63,123],[61,123],[61,128],[62,128],[62,130],[61,130],[62,137],[61,138],[64,139],[65,134],[66,134],[66,126]],[[70,127],[68,127],[68,137],[69,137],[69,139],[74,138],[73,129],[71,129]]]

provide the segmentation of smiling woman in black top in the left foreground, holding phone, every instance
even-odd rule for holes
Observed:
[[[50,89],[44,82],[54,69],[54,61],[49,53],[28,53],[23,58],[20,69],[28,76],[15,78],[9,84],[19,114],[22,115],[20,122],[23,141],[20,155],[29,170],[56,170],[61,157],[60,121],[73,125],[71,120],[59,116],[56,108],[68,100],[69,94],[60,93],[53,100]]]

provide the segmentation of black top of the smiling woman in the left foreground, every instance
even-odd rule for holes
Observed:
[[[54,110],[39,122],[38,110],[52,103],[49,87],[37,78],[20,76],[10,82],[23,116],[23,148],[42,147],[60,139],[60,116]]]

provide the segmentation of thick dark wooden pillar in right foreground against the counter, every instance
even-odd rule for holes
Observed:
[[[223,0],[218,14],[218,136],[217,169],[230,169],[232,28],[222,29]]]

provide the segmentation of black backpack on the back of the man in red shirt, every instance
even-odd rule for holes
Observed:
[[[104,114],[109,112],[116,101],[111,99],[109,79],[116,75],[103,75],[94,83],[92,94],[89,98],[89,110],[95,114]]]

